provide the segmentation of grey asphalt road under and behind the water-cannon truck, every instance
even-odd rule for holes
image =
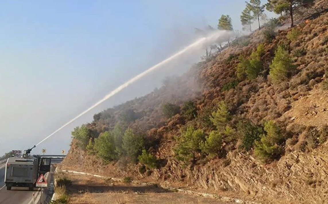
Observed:
[[[5,164],[0,164],[0,204],[30,204],[32,203],[32,194],[39,196],[39,191],[28,191],[28,188],[12,187],[7,191],[5,187]]]

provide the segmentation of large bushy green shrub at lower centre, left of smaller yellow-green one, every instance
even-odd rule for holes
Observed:
[[[177,144],[175,146],[175,153],[177,159],[195,164],[196,156],[201,152],[200,144],[205,140],[205,134],[202,130],[195,130],[193,126],[187,128],[186,131],[181,132],[180,136],[175,137]]]

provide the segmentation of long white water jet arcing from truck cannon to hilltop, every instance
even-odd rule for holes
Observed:
[[[155,69],[157,69],[158,67],[164,65],[165,63],[171,61],[172,59],[178,57],[179,55],[185,53],[186,51],[188,51],[189,49],[191,49],[192,47],[195,47],[197,45],[200,45],[201,43],[203,43],[206,39],[212,39],[215,35],[217,35],[217,33],[211,35],[208,38],[201,38],[198,39],[197,41],[195,41],[194,43],[192,43],[191,45],[185,47],[184,49],[180,50],[179,52],[175,53],[174,55],[170,56],[169,58],[161,61],[160,63],[154,65],[153,67],[149,68],[148,70],[136,75],[135,77],[133,77],[132,79],[130,79],[129,81],[125,82],[124,84],[122,84],[121,86],[118,86],[116,89],[114,89],[112,92],[110,92],[109,94],[107,94],[104,98],[102,98],[100,101],[96,102],[94,105],[92,105],[90,108],[88,108],[87,110],[83,111],[82,113],[80,113],[78,116],[76,116],[75,118],[73,118],[72,120],[68,121],[67,123],[65,123],[63,126],[61,126],[60,128],[58,128],[57,130],[55,130],[53,133],[51,133],[50,135],[48,135],[46,138],[44,138],[43,140],[41,140],[38,144],[36,144],[35,146],[38,146],[39,144],[41,144],[42,142],[44,142],[45,140],[47,140],[48,138],[50,138],[52,135],[54,135],[55,133],[59,132],[61,129],[63,129],[64,127],[66,127],[67,125],[71,124],[73,121],[75,121],[77,118],[80,118],[81,116],[83,116],[84,114],[88,113],[90,110],[92,110],[93,108],[95,108],[96,106],[98,106],[99,104],[103,103],[104,101],[108,100],[109,98],[111,98],[112,96],[114,96],[115,94],[117,94],[118,92],[120,92],[121,90],[123,90],[124,88],[126,88],[127,86],[129,86],[130,84],[133,84],[134,82],[136,82],[137,80],[139,80],[140,78],[142,78],[143,76],[149,74],[150,72],[154,71]]]

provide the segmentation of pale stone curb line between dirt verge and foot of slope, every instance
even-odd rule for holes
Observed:
[[[57,169],[56,169],[56,172],[57,172]],[[85,172],[79,172],[79,171],[61,170],[61,172],[67,172],[67,173],[73,173],[73,174],[82,174],[82,175],[94,176],[94,177],[103,178],[103,179],[111,179],[113,181],[122,181],[122,179],[118,179],[118,178],[100,176],[100,175],[97,175],[97,174],[91,174],[91,173],[85,173]],[[135,181],[135,180],[133,180],[132,183],[141,184],[141,185],[154,185],[154,183],[138,182],[138,181]],[[166,185],[161,185],[161,184],[159,184],[159,186],[161,188],[163,188],[163,189],[166,189],[166,190],[176,191],[176,192],[180,192],[180,193],[184,193],[184,194],[189,194],[189,195],[197,195],[197,196],[202,196],[202,197],[210,197],[210,198],[214,198],[214,199],[220,200],[222,202],[234,202],[234,203],[238,203],[238,204],[262,204],[262,203],[253,202],[253,201],[246,201],[246,200],[242,200],[242,199],[234,198],[234,197],[219,196],[217,194],[209,194],[209,193],[200,193],[200,192],[196,192],[196,191],[184,190],[184,189],[174,188],[174,187],[170,187],[170,186],[166,186]]]

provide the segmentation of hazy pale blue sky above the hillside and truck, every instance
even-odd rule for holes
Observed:
[[[221,14],[229,14],[241,30],[244,7],[244,0],[1,1],[0,154],[36,144],[121,83],[188,45],[195,27],[216,27]],[[74,126],[149,90],[132,87],[42,148],[68,150]]]

